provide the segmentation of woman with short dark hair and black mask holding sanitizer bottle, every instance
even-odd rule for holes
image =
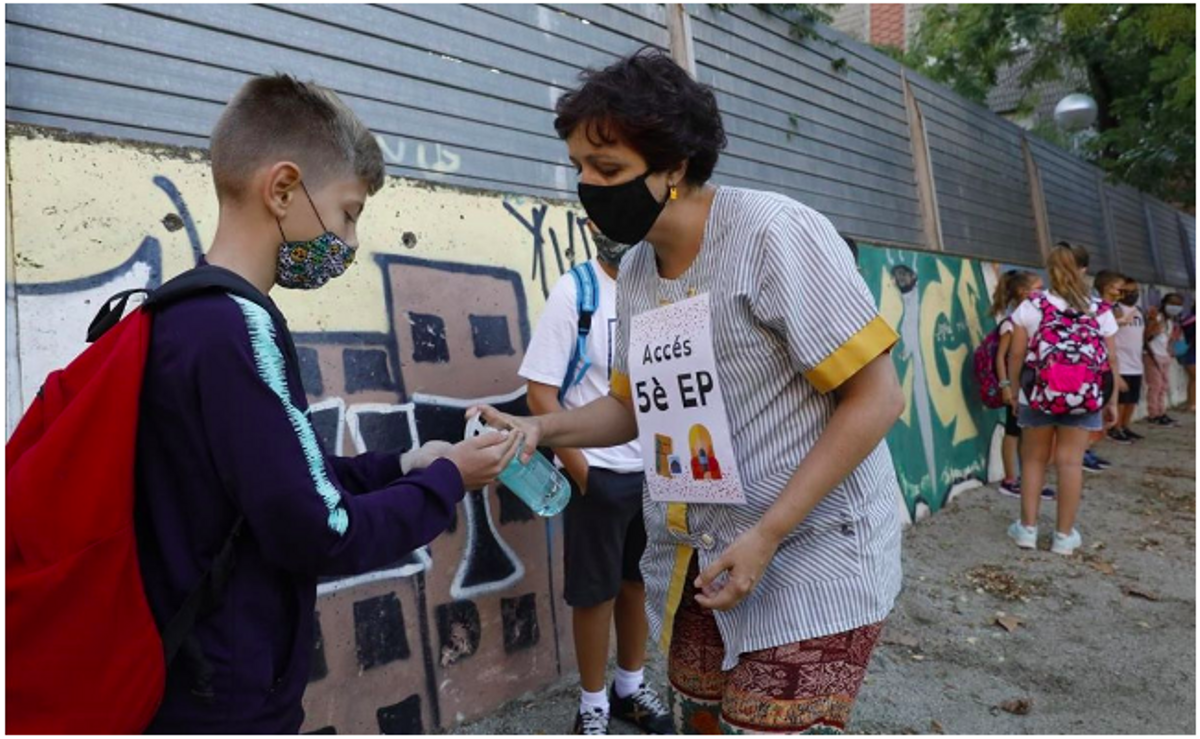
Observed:
[[[640,52],[583,74],[554,126],[588,217],[631,245],[612,393],[538,444],[638,438],[653,637],[685,733],[844,731],[900,589],[896,341],[821,214],[709,184],[710,89]]]

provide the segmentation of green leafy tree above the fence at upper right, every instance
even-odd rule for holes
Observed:
[[[1195,5],[931,5],[911,48],[888,52],[980,103],[998,72],[1025,55],[1026,90],[1064,70],[1084,72],[1081,91],[1099,109],[1088,158],[1194,209]]]

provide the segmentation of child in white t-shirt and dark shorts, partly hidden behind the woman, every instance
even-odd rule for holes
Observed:
[[[577,275],[559,278],[521,365],[520,374],[528,380],[529,409],[535,415],[582,408],[608,395],[617,272],[628,247],[594,228],[592,236],[599,257],[577,268],[582,270]],[[590,290],[598,298],[583,356],[577,350],[580,308],[587,305],[580,300],[581,287],[584,294]],[[554,455],[571,481],[571,500],[563,512],[563,596],[572,609],[580,669],[577,727],[586,726],[586,717],[607,716],[612,702],[624,701],[644,703],[638,714],[643,728],[666,732],[670,716],[665,708],[656,708],[661,701],[646,686],[643,673],[649,626],[640,571],[646,549],[641,447],[634,440],[611,447],[554,449]],[[607,695],[608,633],[614,624],[617,673]]]

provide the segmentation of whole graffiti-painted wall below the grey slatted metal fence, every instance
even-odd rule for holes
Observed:
[[[6,392],[11,433],[46,374],[84,348],[101,302],[196,264],[217,203],[199,150],[10,125]],[[360,257],[314,293],[278,292],[326,450],[478,433],[463,410],[527,413],[517,367],[554,281],[592,245],[576,204],[389,179]],[[998,476],[1002,417],[971,353],[1001,265],[862,245],[900,335],[908,405],[889,434],[907,521]],[[1148,292],[1148,290],[1147,290]],[[1178,385],[1182,387],[1182,385]],[[562,530],[497,487],[450,531],[380,571],[319,585],[305,731],[452,727],[574,671]]]

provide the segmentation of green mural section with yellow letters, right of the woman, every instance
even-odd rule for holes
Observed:
[[[995,326],[994,265],[859,245],[859,270],[900,335],[892,352],[908,404],[888,445],[910,521],[990,479],[1003,416],[984,408],[971,358]]]

